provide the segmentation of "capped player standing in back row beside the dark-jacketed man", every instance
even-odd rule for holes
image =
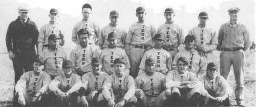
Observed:
[[[37,54],[40,55],[42,52],[46,51],[48,48],[48,37],[50,34],[56,34],[58,35],[61,39],[59,42],[59,48],[65,44],[63,32],[61,32],[59,26],[58,26],[58,18],[59,18],[59,13],[57,9],[51,9],[50,10],[50,23],[43,25],[39,31],[38,35],[38,50]]]

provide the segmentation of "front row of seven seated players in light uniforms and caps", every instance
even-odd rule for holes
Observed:
[[[214,62],[207,65],[207,73],[198,78],[187,71],[188,61],[177,60],[177,70],[165,75],[156,72],[156,61],[145,60],[145,72],[135,80],[124,73],[125,60],[114,60],[114,74],[101,71],[99,57],[92,59],[92,72],[82,77],[72,73],[72,62],[63,61],[63,74],[51,77],[38,58],[33,71],[25,73],[17,82],[14,105],[26,106],[230,106],[231,88],[217,75]],[[201,82],[200,82],[201,81]],[[48,88],[49,84],[49,88]],[[203,88],[204,87],[204,88]],[[25,91],[24,91],[25,90]],[[50,90],[50,91],[49,91]]]

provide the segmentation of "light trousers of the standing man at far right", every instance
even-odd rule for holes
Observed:
[[[220,54],[220,73],[227,79],[230,67],[233,65],[234,78],[236,79],[236,101],[238,104],[244,99],[244,71],[245,71],[245,53],[243,50],[239,51],[221,51]]]

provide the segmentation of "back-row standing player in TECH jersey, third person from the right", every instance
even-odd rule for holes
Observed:
[[[172,58],[184,48],[184,35],[182,28],[174,23],[174,10],[172,8],[166,8],[164,10],[164,17],[166,19],[165,24],[162,24],[158,28],[158,33],[164,35],[163,49],[168,51]],[[179,48],[179,49],[178,49]]]

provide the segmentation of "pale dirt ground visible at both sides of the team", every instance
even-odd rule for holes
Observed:
[[[5,52],[5,49],[1,49]],[[215,61],[219,62],[219,51],[214,51],[216,57]],[[68,54],[69,55],[69,54]],[[14,88],[14,71],[12,61],[9,59],[7,53],[0,53],[0,106],[12,106],[13,88]],[[234,81],[233,70],[231,67],[228,82],[234,89],[236,83]],[[256,106],[255,98],[255,50],[248,50],[246,52],[246,69],[245,69],[245,104],[246,106]],[[234,93],[231,95],[232,106],[237,103],[235,101]]]

